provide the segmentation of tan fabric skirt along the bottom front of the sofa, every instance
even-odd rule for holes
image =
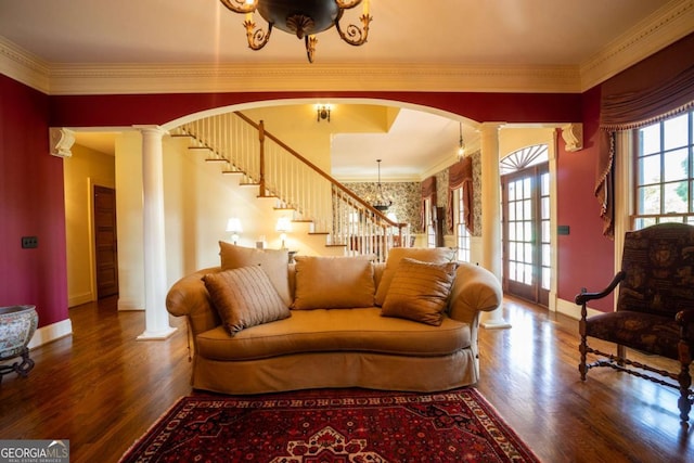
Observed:
[[[329,387],[432,393],[473,385],[478,376],[472,349],[441,357],[335,351],[218,361],[196,356],[192,386],[232,395]]]

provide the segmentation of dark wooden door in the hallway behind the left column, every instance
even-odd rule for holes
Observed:
[[[97,297],[118,294],[118,242],[116,191],[94,185],[94,246],[97,250]]]

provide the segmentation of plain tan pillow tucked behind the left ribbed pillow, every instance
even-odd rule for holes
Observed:
[[[256,249],[220,241],[219,257],[222,270],[260,266],[284,304],[287,307],[292,305],[288,273],[290,253],[287,249]]]

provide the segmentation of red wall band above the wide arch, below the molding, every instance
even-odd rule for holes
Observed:
[[[436,107],[477,121],[575,123],[581,117],[578,93],[440,92],[254,92],[51,98],[53,127],[163,125],[215,107],[282,99],[371,98]]]

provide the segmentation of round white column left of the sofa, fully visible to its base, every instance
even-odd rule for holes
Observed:
[[[166,133],[158,126],[136,127],[142,134],[142,213],[144,232],[145,330],[138,339],[166,339],[175,327],[166,311],[166,246],[164,241],[164,151]]]

